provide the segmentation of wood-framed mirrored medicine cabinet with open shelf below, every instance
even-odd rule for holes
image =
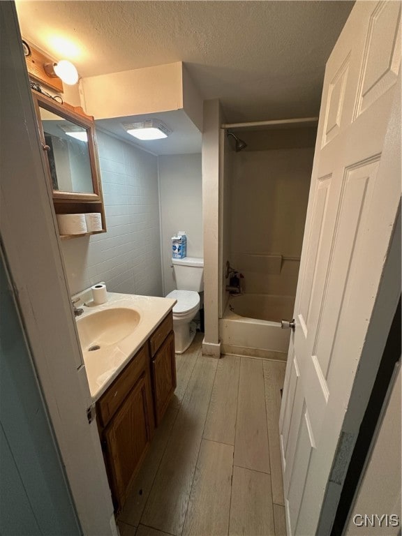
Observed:
[[[56,214],[100,213],[102,230],[61,235],[61,239],[106,232],[94,118],[81,107],[58,103],[32,90]]]

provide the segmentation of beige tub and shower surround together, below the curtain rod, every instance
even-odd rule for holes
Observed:
[[[224,160],[221,237],[246,294],[223,296],[219,338],[225,353],[285,360],[290,335],[278,322],[295,303],[315,128],[237,133],[248,147]]]

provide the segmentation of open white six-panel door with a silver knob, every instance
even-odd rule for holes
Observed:
[[[354,441],[345,415],[401,195],[382,172],[400,12],[357,1],[327,62],[279,423],[288,535],[315,535],[338,442]]]

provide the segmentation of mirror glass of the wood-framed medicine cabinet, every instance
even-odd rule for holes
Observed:
[[[87,129],[40,107],[53,190],[94,193]]]

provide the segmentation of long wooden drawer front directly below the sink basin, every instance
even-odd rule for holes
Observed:
[[[148,366],[148,362],[149,354],[145,344],[131,359],[131,362],[124,368],[119,377],[114,380],[105,394],[101,396],[98,401],[97,413],[102,426],[106,426],[110,421],[119,405],[134,387],[144,368]]]

